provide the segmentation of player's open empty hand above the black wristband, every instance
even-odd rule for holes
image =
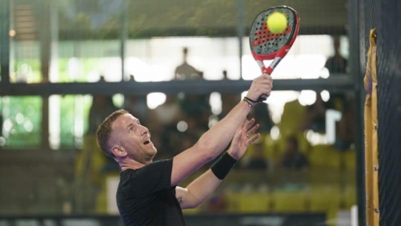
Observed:
[[[252,136],[252,134],[259,128],[259,124],[253,125],[254,123],[255,119],[252,118],[250,121],[244,122],[243,125],[237,129],[231,142],[231,146],[227,151],[233,158],[237,160],[240,159],[245,154],[249,144],[259,138],[260,133]]]

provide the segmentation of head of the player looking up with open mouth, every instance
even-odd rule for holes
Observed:
[[[149,130],[126,110],[107,116],[96,130],[96,139],[102,151],[117,161],[130,158],[146,164],[156,154]]]

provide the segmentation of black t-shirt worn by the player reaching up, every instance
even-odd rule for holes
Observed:
[[[126,226],[186,225],[170,185],[172,159],[152,162],[120,174],[117,206]]]

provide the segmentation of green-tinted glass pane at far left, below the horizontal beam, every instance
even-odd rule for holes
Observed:
[[[4,96],[2,99],[5,148],[39,147],[42,137],[42,98]]]

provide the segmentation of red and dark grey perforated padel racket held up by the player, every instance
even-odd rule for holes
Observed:
[[[266,24],[267,17],[273,12],[281,12],[287,17],[287,28],[281,33],[272,33]],[[260,12],[254,19],[249,32],[251,52],[262,73],[271,74],[277,64],[290,50],[299,30],[299,15],[293,8],[281,5]],[[263,60],[273,59],[268,67]],[[262,94],[258,102],[266,100]]]

